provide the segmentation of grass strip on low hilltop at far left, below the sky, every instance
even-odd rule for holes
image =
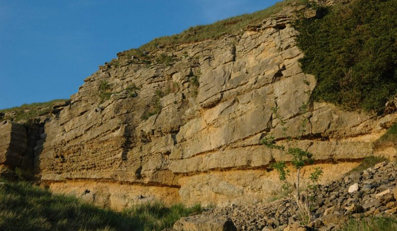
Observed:
[[[12,119],[13,121],[24,120],[25,123],[30,123],[37,116],[49,115],[52,111],[52,106],[56,103],[65,102],[65,99],[52,100],[44,103],[23,104],[20,107],[13,107],[0,110],[0,114],[15,112],[14,116],[0,116],[0,121],[5,119]]]

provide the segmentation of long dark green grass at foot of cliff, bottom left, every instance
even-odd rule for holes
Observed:
[[[168,207],[162,202],[116,212],[71,196],[53,194],[27,182],[5,181],[0,184],[0,230],[4,231],[163,230],[172,227],[183,216],[200,212],[199,204]]]

